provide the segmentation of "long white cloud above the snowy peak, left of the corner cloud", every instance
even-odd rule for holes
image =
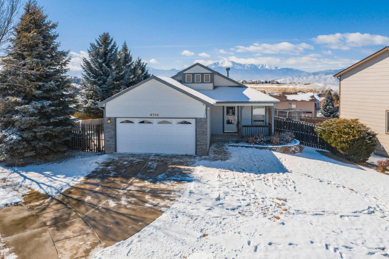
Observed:
[[[254,52],[254,53],[266,53],[266,54],[293,54],[298,55],[305,49],[314,49],[314,47],[307,43],[291,44],[289,42],[281,42],[277,44],[266,43],[254,43],[248,47],[235,46],[237,52]]]

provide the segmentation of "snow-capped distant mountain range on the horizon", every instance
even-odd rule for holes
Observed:
[[[219,73],[226,74],[226,67],[230,67],[230,77],[235,80],[277,80],[284,83],[322,83],[338,84],[338,79],[333,77],[343,69],[329,69],[318,72],[305,72],[296,68],[281,68],[266,64],[244,65],[232,61],[216,62],[209,65]],[[149,67],[149,73],[171,77],[181,71],[180,69],[154,69]]]

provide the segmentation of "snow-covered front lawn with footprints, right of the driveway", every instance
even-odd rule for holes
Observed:
[[[199,161],[181,198],[98,258],[383,258],[389,176],[300,154],[230,147]]]

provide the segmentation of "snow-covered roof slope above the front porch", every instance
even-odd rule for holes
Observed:
[[[210,98],[219,101],[252,101],[252,102],[279,102],[277,99],[261,93],[250,87],[232,87],[232,86],[219,86],[214,90],[200,90],[199,91]]]

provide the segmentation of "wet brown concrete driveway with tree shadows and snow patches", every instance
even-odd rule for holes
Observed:
[[[0,209],[0,258],[80,258],[144,228],[181,196],[195,156],[115,154],[55,197]]]

